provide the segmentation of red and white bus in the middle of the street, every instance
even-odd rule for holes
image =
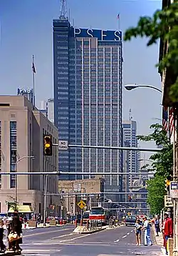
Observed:
[[[89,214],[90,220],[97,220],[98,222],[102,222],[103,225],[108,225],[109,218],[110,210],[103,207],[91,207]]]

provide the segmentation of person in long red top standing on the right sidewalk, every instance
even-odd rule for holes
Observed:
[[[164,213],[164,222],[162,226],[162,234],[164,235],[164,246],[166,250],[166,255],[168,255],[167,252],[167,240],[172,237],[173,235],[173,223],[172,219],[169,217],[168,212]]]

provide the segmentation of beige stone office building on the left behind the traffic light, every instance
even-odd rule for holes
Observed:
[[[53,156],[43,156],[43,135],[51,134],[58,142],[58,129],[24,96],[0,96],[1,172],[56,172],[58,147]],[[34,159],[29,158],[34,156]],[[0,175],[0,212],[7,212],[15,200],[30,205],[34,212],[43,213],[46,175]],[[48,175],[47,192],[58,192],[58,176]],[[57,203],[55,196],[47,197],[47,208]],[[9,202],[9,204],[6,204]]]

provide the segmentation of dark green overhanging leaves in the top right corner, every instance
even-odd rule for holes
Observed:
[[[155,11],[152,17],[142,16],[136,27],[127,29],[124,40],[130,41],[132,37],[147,37],[147,46],[156,44],[158,39],[163,43],[169,41],[169,49],[159,61],[157,67],[162,72],[171,68],[177,80],[172,84],[169,96],[172,102],[178,102],[178,4],[170,4],[163,10]]]

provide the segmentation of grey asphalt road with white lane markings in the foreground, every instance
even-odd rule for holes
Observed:
[[[73,226],[48,227],[23,232],[24,256],[132,256],[162,255],[155,245],[135,245],[133,227],[117,227],[93,234],[73,234]]]

